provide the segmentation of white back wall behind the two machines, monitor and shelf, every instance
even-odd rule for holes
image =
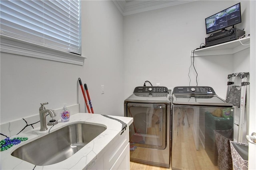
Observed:
[[[238,2],[200,0],[125,16],[125,97],[146,80],[166,87],[188,86],[191,51],[209,36],[204,19]],[[243,21],[237,28],[248,32],[249,2],[242,1],[241,7]],[[225,98],[227,75],[234,71],[233,62],[233,56],[195,57],[198,86],[211,86]],[[196,85],[192,68],[190,85]]]

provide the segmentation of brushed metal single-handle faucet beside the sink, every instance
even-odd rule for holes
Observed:
[[[49,113],[50,117],[56,117],[56,113],[53,110],[45,109],[44,105],[48,105],[48,102],[46,103],[40,103],[41,107],[39,108],[39,116],[40,116],[40,131],[47,130],[46,126],[46,114]]]

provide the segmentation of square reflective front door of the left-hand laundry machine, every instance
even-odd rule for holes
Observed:
[[[130,125],[131,144],[146,148],[166,148],[166,105],[127,103],[127,116],[133,117],[133,124]]]

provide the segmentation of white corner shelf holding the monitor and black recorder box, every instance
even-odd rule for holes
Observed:
[[[242,43],[244,45],[242,45]],[[196,49],[194,51],[194,57],[209,56],[209,55],[227,55],[234,54],[244,49],[250,48],[250,37],[241,38],[240,40],[233,40],[231,42],[221,43],[210,47]],[[192,52],[193,52],[192,51]]]

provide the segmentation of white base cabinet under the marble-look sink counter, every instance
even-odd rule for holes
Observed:
[[[109,144],[110,145],[110,144]],[[130,170],[129,130],[125,130],[89,170]]]

